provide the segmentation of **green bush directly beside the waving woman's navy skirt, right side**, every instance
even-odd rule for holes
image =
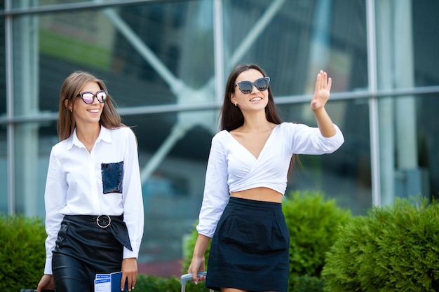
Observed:
[[[351,212],[310,191],[288,194],[282,208],[290,231],[288,291],[323,291],[325,253],[339,237],[339,226],[351,220]]]

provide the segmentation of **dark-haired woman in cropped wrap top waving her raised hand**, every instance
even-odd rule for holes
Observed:
[[[290,235],[281,201],[288,171],[295,155],[332,153],[344,143],[325,111],[332,82],[325,72],[311,100],[318,127],[283,123],[269,82],[256,64],[236,67],[224,94],[222,131],[212,139],[188,272],[217,291],[287,291]],[[197,273],[210,239],[206,278]]]

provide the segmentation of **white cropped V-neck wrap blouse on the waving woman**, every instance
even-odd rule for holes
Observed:
[[[293,154],[324,154],[344,143],[337,125],[333,137],[323,137],[318,127],[281,123],[271,132],[258,158],[223,130],[212,139],[205,176],[198,233],[212,237],[229,195],[250,188],[265,187],[284,194]]]

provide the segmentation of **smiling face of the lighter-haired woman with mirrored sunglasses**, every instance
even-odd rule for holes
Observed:
[[[81,92],[92,92],[93,94],[100,90],[101,88],[95,82],[88,82],[81,88]],[[73,106],[67,100],[65,106],[72,110],[76,126],[99,123],[102,109],[104,109],[104,103],[98,102],[97,98],[94,98],[91,104],[86,104],[81,97],[76,97]]]

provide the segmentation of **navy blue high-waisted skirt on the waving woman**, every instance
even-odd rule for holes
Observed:
[[[212,237],[205,286],[286,292],[289,247],[281,203],[230,197]]]

